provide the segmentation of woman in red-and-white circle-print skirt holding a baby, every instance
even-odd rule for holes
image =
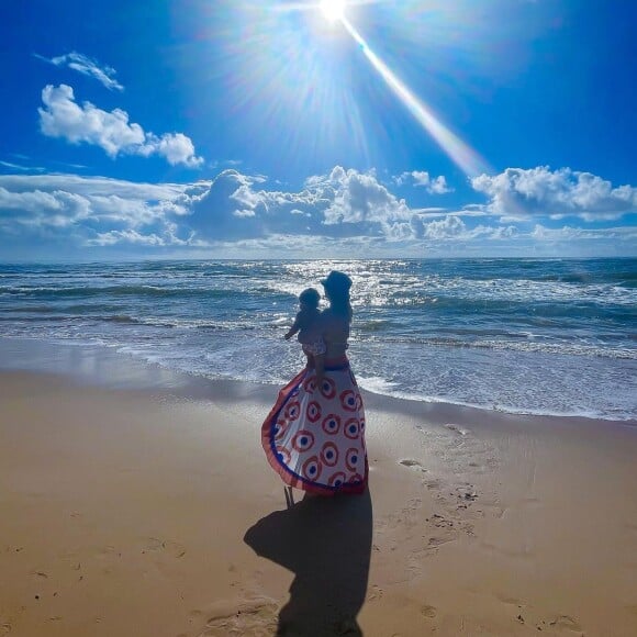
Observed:
[[[336,270],[321,281],[323,365],[306,367],[280,392],[261,427],[268,461],[288,487],[312,494],[362,493],[367,485],[365,411],[345,355],[351,279]]]

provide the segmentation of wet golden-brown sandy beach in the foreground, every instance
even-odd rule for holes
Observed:
[[[0,635],[637,635],[637,427],[366,393],[370,489],[286,507],[277,388],[0,372]]]

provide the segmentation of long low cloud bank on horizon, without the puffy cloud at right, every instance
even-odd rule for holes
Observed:
[[[558,245],[561,254],[581,242],[608,250],[623,245],[625,252],[637,238],[635,228],[546,225],[489,223],[489,217],[478,223],[461,210],[411,209],[373,172],[340,166],[309,178],[298,191],[270,189],[265,177],[234,169],[186,185],[0,175],[0,239],[53,237],[59,245],[170,247],[198,256],[210,250],[241,256],[244,250],[278,257],[366,257],[391,256],[391,250],[393,256],[480,249],[505,254],[518,246],[541,250]]]

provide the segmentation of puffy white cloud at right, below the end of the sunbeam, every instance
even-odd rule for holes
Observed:
[[[601,177],[570,168],[507,168],[500,175],[476,177],[471,185],[490,198],[489,212],[511,219],[574,215],[592,221],[637,210],[637,188],[614,188]]]

